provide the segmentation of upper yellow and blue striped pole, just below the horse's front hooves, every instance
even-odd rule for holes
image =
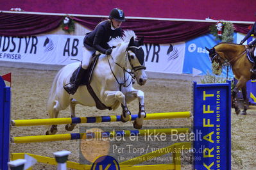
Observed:
[[[148,113],[144,120],[162,120],[174,118],[189,118],[191,112],[160,112]],[[138,118],[137,114],[130,116],[130,121]],[[93,116],[93,117],[80,117],[80,118],[53,118],[53,119],[35,119],[35,120],[12,120],[12,126],[28,127],[40,125],[62,125],[70,123],[101,123],[121,121],[121,116]]]

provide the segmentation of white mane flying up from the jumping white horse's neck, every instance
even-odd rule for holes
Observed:
[[[136,38],[136,35],[135,35],[134,31],[125,30],[124,34],[123,34],[123,37],[117,36],[116,38],[112,38],[108,42],[108,45],[110,45],[110,47],[113,47],[113,46],[118,46],[118,45],[120,45],[121,43],[124,43],[124,42],[130,42],[130,39],[132,37],[134,37],[134,39]]]

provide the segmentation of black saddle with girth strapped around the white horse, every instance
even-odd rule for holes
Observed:
[[[90,95],[92,96],[92,98],[94,98],[94,102],[96,103],[96,107],[99,110],[112,110],[112,107],[107,107],[105,104],[103,104],[101,102],[101,100],[99,100],[99,98],[97,97],[97,95],[95,94],[94,90],[92,89],[92,86],[90,86],[90,81],[92,79],[92,73],[94,71],[94,68],[96,66],[96,64],[98,63],[98,59],[99,59],[99,55],[96,55],[95,53],[92,54],[92,59],[89,63],[89,66],[87,68],[87,70],[85,71],[83,78],[81,79],[81,82],[79,84],[79,86],[87,86],[87,89],[90,93]],[[79,66],[78,66],[79,68]],[[78,68],[76,68],[76,70],[74,70],[71,78],[70,78],[70,82],[74,82],[75,78],[76,78],[76,73],[78,72]]]

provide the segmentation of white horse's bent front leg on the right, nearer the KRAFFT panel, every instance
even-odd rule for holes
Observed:
[[[129,91],[128,95],[126,95],[126,100],[130,102],[130,100],[134,100],[134,98],[138,98],[139,100],[139,112],[138,118],[133,121],[133,127],[140,129],[142,128],[144,118],[146,118],[146,111],[144,106],[144,93],[141,90],[133,89]]]

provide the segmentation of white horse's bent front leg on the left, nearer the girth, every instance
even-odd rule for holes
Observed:
[[[112,103],[114,100],[118,100],[121,103],[121,106],[123,108],[123,113],[121,115],[121,121],[126,122],[130,120],[131,112],[129,111],[127,105],[125,96],[121,91],[105,91],[105,101],[107,103]]]

